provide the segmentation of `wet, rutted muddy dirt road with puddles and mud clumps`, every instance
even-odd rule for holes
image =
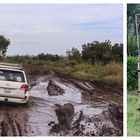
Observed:
[[[30,77],[27,105],[0,103],[1,136],[121,136],[122,90],[60,76]],[[99,88],[100,87],[100,88]]]

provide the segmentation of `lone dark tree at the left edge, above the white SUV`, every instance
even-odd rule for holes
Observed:
[[[2,56],[6,55],[10,40],[5,38],[4,35],[0,35],[0,53]]]

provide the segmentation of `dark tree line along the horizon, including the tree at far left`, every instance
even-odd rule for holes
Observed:
[[[1,55],[5,56],[10,40],[0,35],[0,51]],[[60,56],[58,54],[40,53],[36,56],[34,55],[16,55],[16,56],[6,56],[8,59],[13,59],[15,61],[23,61],[23,59],[28,60],[44,60],[44,61],[57,61],[60,59],[75,60],[77,62],[85,62],[89,64],[94,64],[95,62],[100,62],[102,64],[107,64],[110,61],[123,62],[123,44],[116,43],[112,45],[110,40],[105,40],[103,42],[93,41],[91,43],[83,44],[82,51],[73,47],[66,51],[66,56]]]

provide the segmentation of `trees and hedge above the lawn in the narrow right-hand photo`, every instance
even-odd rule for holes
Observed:
[[[138,87],[137,74],[137,50],[135,14],[140,13],[140,4],[127,4],[127,87],[128,90],[136,90]],[[140,17],[137,19],[140,27]]]

